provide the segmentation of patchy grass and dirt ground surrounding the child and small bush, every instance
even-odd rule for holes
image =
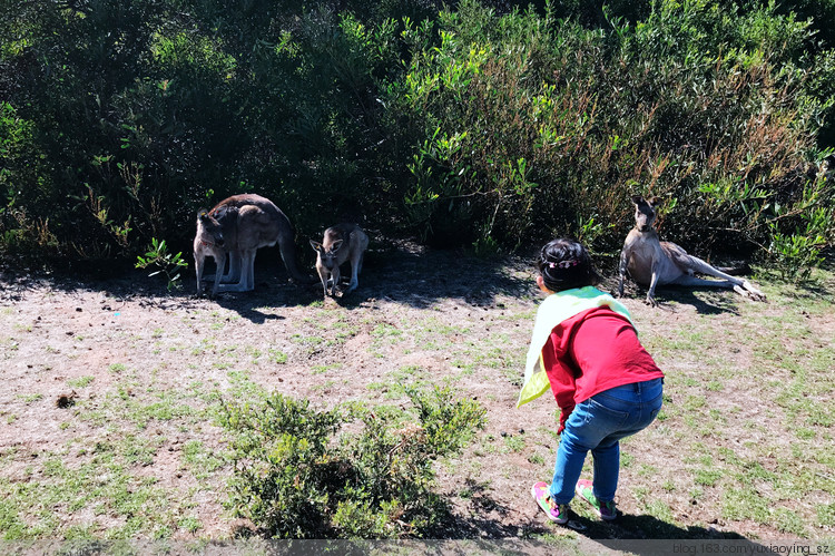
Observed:
[[[574,538],[530,500],[559,441],[550,394],[515,409],[541,299],[530,270],[426,256],[433,263],[393,263],[421,265],[420,279],[396,284],[371,257],[346,300],[262,283],[216,301],[160,291],[118,305],[60,283],[24,290],[14,311],[0,311],[2,538],[230,538],[247,524],[224,509],[232,468],[215,421],[220,399],[266,390],[322,409],[360,401],[382,417],[403,413],[406,387],[444,384],[484,404],[488,425],[439,462],[454,519],[435,535]],[[477,295],[449,279],[453,264],[495,285]],[[667,375],[665,406],[622,443],[623,518],[603,524],[572,504],[586,536],[835,534],[835,279],[758,283],[767,303],[677,290],[659,291],[662,309],[640,294],[625,300]],[[59,408],[68,390],[73,403]]]

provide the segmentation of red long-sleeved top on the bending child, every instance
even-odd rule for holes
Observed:
[[[554,326],[542,349],[542,362],[562,410],[558,433],[577,403],[610,388],[664,377],[629,319],[606,306]]]

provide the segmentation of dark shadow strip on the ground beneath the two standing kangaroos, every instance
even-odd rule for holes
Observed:
[[[528,296],[533,293],[532,267],[518,257],[474,257],[460,251],[431,250],[406,241],[380,243],[382,245],[372,245],[366,252],[360,287],[336,297],[341,306],[351,310],[369,301],[386,300],[421,309],[440,300],[453,299],[492,308],[497,295]],[[304,306],[323,300],[322,284],[312,265],[311,261],[303,262],[310,283],[293,284],[281,263],[277,247],[259,250],[255,262],[255,290],[222,292],[215,301],[255,323],[281,319],[265,309]],[[206,297],[210,290],[207,282],[203,293],[196,293],[191,266],[181,272],[179,287],[170,290],[164,274],[149,276],[150,272],[125,264],[75,264],[75,267],[56,271],[7,267],[0,269],[0,281],[7,284],[3,299],[8,301],[19,299],[27,289],[48,285],[65,292],[101,291],[116,300],[144,297],[147,300],[144,303],[163,309],[188,309],[198,299]],[[209,260],[206,273],[213,272]],[[351,265],[343,265],[343,277],[350,275]]]

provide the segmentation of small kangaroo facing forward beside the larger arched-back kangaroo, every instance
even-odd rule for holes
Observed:
[[[322,287],[327,296],[327,285],[331,284],[331,295],[336,295],[340,283],[340,265],[351,260],[351,283],[343,295],[356,290],[360,285],[360,272],[363,269],[363,253],[369,247],[369,236],[356,224],[337,224],[325,230],[322,243],[311,240],[311,246],[316,251],[316,271],[322,280]]]

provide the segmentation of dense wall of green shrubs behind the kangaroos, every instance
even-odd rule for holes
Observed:
[[[187,248],[242,192],[299,235],[609,253],[639,192],[698,252],[788,276],[832,245],[831,1],[519,3],[6,3],[0,247]]]

